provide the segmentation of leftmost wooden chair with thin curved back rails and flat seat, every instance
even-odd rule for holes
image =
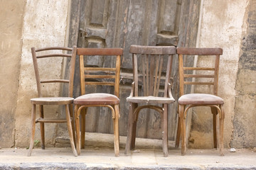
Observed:
[[[31,141],[30,146],[28,150],[28,156],[31,156],[31,152],[33,149],[33,143],[34,143],[34,135],[36,130],[36,123],[40,123],[40,129],[41,129],[41,147],[42,149],[45,149],[45,137],[44,137],[44,123],[67,123],[68,125],[68,133],[70,137],[70,144],[73,150],[73,153],[75,156],[78,156],[76,150],[75,150],[75,142],[74,142],[74,136],[75,130],[74,130],[74,123],[70,118],[70,115],[73,117],[73,79],[74,79],[74,70],[75,70],[75,52],[76,47],[73,48],[69,47],[45,47],[41,49],[35,49],[35,47],[31,48],[32,57],[33,57],[33,66],[36,73],[36,85],[38,89],[38,98],[31,98],[32,103],[32,113],[31,113]],[[71,52],[70,54],[67,54],[67,52]],[[54,62],[54,58],[56,57],[68,57],[70,58],[70,76],[69,79],[40,79],[40,74],[38,69],[38,60],[43,60],[42,58],[48,58],[53,59],[51,60]],[[42,69],[54,69],[51,67],[45,67]],[[55,72],[51,71],[52,75],[47,75],[47,77],[54,77]],[[42,86],[43,84],[48,83],[65,83],[68,84],[68,97],[46,97],[43,96],[42,93]],[[40,118],[36,119],[36,105],[39,106],[39,113]],[[65,119],[49,119],[44,118],[44,111],[43,106],[49,106],[49,105],[63,105],[65,106]],[[72,121],[72,123],[71,123]],[[73,126],[73,127],[72,127]]]

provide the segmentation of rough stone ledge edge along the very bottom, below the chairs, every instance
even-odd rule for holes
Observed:
[[[234,165],[186,165],[186,164],[170,164],[170,165],[154,165],[154,166],[117,166],[113,164],[84,164],[84,163],[63,163],[63,162],[55,162],[55,163],[26,163],[26,164],[0,164],[0,169],[11,170],[11,169],[99,169],[99,170],[135,170],[135,169],[156,169],[156,170],[164,170],[164,169],[176,169],[176,170],[183,170],[183,169],[193,169],[193,170],[211,170],[211,169],[226,169],[226,170],[242,170],[242,169],[256,169],[256,166],[234,166]]]

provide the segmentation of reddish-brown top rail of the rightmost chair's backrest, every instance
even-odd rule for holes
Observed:
[[[222,55],[222,48],[188,48],[177,47],[178,55]]]

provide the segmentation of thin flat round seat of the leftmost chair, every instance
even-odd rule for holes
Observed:
[[[70,97],[42,97],[42,98],[31,98],[32,104],[39,105],[65,105],[73,103],[74,98]]]

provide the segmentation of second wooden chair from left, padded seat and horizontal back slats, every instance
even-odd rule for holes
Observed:
[[[77,151],[85,147],[85,115],[89,107],[107,107],[112,111],[114,122],[114,153],[119,157],[119,75],[122,48],[78,48],[77,55],[80,57],[80,84],[81,94],[75,98],[75,124],[77,130]],[[116,57],[115,67],[93,67],[84,64],[84,56],[88,57]],[[86,94],[86,85],[91,86],[114,86],[114,95],[107,93]],[[80,114],[81,140],[80,140]],[[81,146],[82,141],[82,146]]]

